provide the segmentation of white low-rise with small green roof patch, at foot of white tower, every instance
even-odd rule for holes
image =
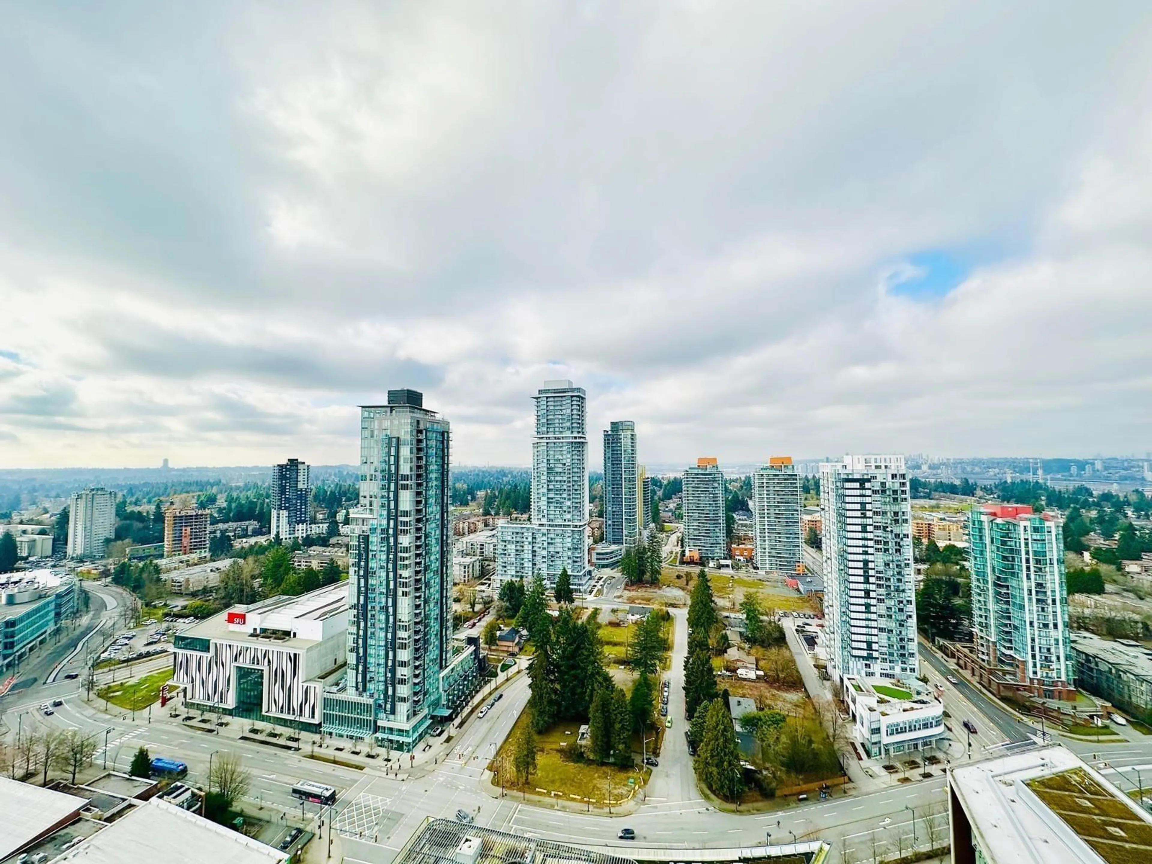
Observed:
[[[852,735],[865,755],[879,759],[932,750],[943,738],[943,703],[918,683],[843,677]]]

